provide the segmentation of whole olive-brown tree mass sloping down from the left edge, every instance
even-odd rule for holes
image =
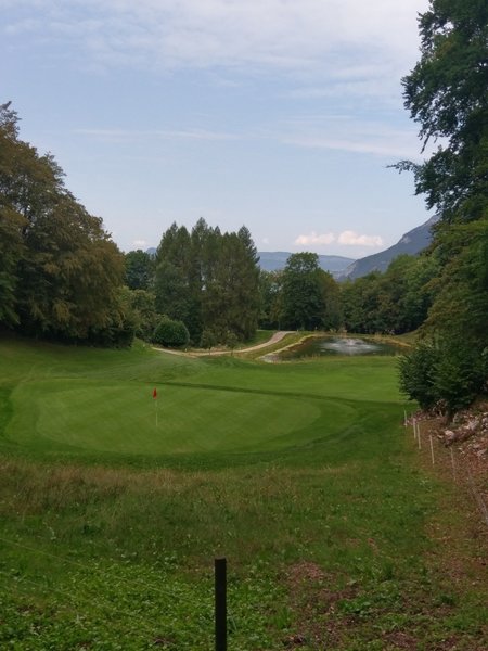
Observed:
[[[131,339],[120,252],[54,157],[20,139],[10,103],[0,106],[0,235],[1,323],[65,341]]]

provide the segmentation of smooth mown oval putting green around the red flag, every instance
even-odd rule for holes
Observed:
[[[341,400],[175,385],[158,385],[155,400],[152,391],[138,382],[23,382],[11,395],[5,436],[53,451],[270,451],[337,434],[357,419]]]

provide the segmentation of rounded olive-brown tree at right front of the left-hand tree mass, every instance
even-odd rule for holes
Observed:
[[[101,219],[61,197],[29,225],[24,243],[17,290],[24,331],[81,341],[111,322],[124,261]]]

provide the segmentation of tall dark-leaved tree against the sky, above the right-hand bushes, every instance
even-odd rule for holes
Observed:
[[[424,149],[411,169],[418,194],[446,221],[471,221],[488,208],[488,5],[486,0],[431,0],[420,16],[422,56],[403,80],[404,103],[421,125]]]

